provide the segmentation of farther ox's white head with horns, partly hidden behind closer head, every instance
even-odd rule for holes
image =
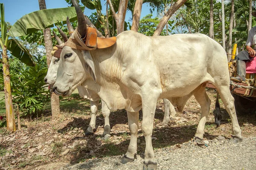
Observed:
[[[57,28],[58,28],[58,31],[60,32],[61,37],[64,40],[64,42],[67,42],[67,40],[68,40],[67,35],[58,26],[57,26]],[[71,26],[70,20],[69,20],[68,17],[67,17],[67,28],[68,28],[68,31],[70,32],[70,34],[72,34],[74,29]],[[54,31],[52,31],[52,32],[53,32],[53,35],[54,35],[54,37],[56,38],[56,40],[58,42],[58,45],[56,45],[54,47],[55,51],[52,51],[53,52],[52,60],[51,60],[50,65],[49,65],[47,75],[44,78],[44,82],[49,84],[49,85],[53,85],[55,83],[55,80],[56,80],[56,77],[57,77],[57,70],[58,70],[58,66],[59,66],[59,60],[60,60],[60,52],[61,52],[61,49],[64,46],[64,42],[61,41],[61,39],[55,34]]]

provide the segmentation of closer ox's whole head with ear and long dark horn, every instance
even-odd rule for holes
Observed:
[[[84,14],[81,11],[76,0],[72,0],[73,5],[76,8],[76,14],[78,19],[78,27],[69,40],[74,40],[74,36],[79,37],[79,40],[84,41],[86,37],[87,24],[84,18]],[[70,42],[68,40],[68,42]],[[72,43],[72,42],[71,42]],[[57,95],[69,96],[76,89],[78,85],[81,85],[85,79],[91,78],[96,82],[95,69],[92,57],[89,51],[74,49],[70,47],[67,42],[61,51],[60,61],[58,63],[58,71],[53,91]]]

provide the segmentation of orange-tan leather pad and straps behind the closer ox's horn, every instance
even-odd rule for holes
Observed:
[[[69,38],[67,42],[65,42],[64,46],[69,46],[78,50],[91,51],[95,50],[96,48],[108,48],[116,43],[116,37],[97,37],[96,29],[91,27],[87,27],[87,34],[86,37],[84,37],[83,39],[81,38],[81,35],[77,31],[77,29],[75,29],[73,35],[74,39]]]

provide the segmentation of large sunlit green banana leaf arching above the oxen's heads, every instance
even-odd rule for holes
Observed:
[[[75,7],[44,9],[26,14],[13,24],[8,32],[9,36],[20,37],[38,30],[53,27],[54,24],[66,24],[67,17],[70,22],[77,19]]]

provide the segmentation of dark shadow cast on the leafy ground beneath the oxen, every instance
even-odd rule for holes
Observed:
[[[156,118],[163,120],[163,111],[157,109]],[[101,119],[99,119],[99,117]],[[99,116],[96,119],[96,125],[104,125],[103,116]],[[142,120],[142,112],[140,111],[139,121]],[[89,125],[90,119],[74,118],[72,122],[68,123],[66,127],[58,130],[59,133],[63,133],[69,128],[80,127],[84,132]],[[111,128],[116,125],[116,128],[121,128],[122,132],[111,132],[112,138],[107,141],[99,140],[99,135],[93,134],[92,136],[79,136],[70,139],[72,141],[86,140],[86,144],[78,144],[72,150],[72,156],[70,163],[76,164],[80,161],[85,161],[86,159],[91,159],[94,157],[102,158],[105,156],[116,156],[122,155],[127,152],[128,145],[130,142],[130,133],[127,125],[127,114],[126,111],[115,111],[110,114],[110,124]],[[125,124],[125,125],[123,125]],[[120,126],[120,127],[119,127]],[[124,127],[125,126],[125,127]],[[176,145],[178,143],[188,142],[194,137],[197,125],[181,125],[178,127],[155,127],[152,134],[152,144],[153,148],[163,148]],[[145,138],[143,136],[142,130],[138,132],[138,148],[137,153],[144,157],[145,151]],[[115,136],[115,137],[113,137]],[[216,136],[207,135],[207,138],[214,139]]]

